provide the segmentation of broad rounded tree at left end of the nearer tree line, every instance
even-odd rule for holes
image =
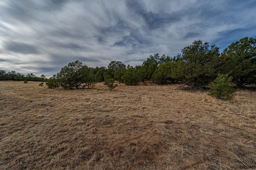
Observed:
[[[78,89],[82,84],[82,76],[80,74],[81,68],[82,63],[80,61],[75,61],[62,67],[60,73],[57,74],[57,78],[60,81],[60,86],[64,87],[65,89]]]

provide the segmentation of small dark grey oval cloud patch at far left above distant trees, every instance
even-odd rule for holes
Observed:
[[[9,41],[4,43],[4,48],[5,50],[12,51],[14,53],[39,54],[39,51],[36,48],[36,46],[22,42]]]

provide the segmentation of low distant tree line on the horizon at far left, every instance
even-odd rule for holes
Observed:
[[[0,70],[0,81],[47,81],[46,76],[42,74],[40,77],[36,77],[33,73],[28,73],[26,76],[16,71],[6,71]]]

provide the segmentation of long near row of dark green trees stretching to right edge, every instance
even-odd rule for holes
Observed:
[[[69,63],[48,81],[49,88],[90,88],[97,82],[116,80],[126,85],[152,81],[156,84],[181,82],[193,89],[205,89],[218,74],[232,77],[237,87],[256,85],[256,39],[242,38],[222,53],[215,45],[196,40],[181,54],[170,57],[158,53],[147,57],[142,65],[124,65],[111,61],[108,67],[88,67],[80,61]]]

